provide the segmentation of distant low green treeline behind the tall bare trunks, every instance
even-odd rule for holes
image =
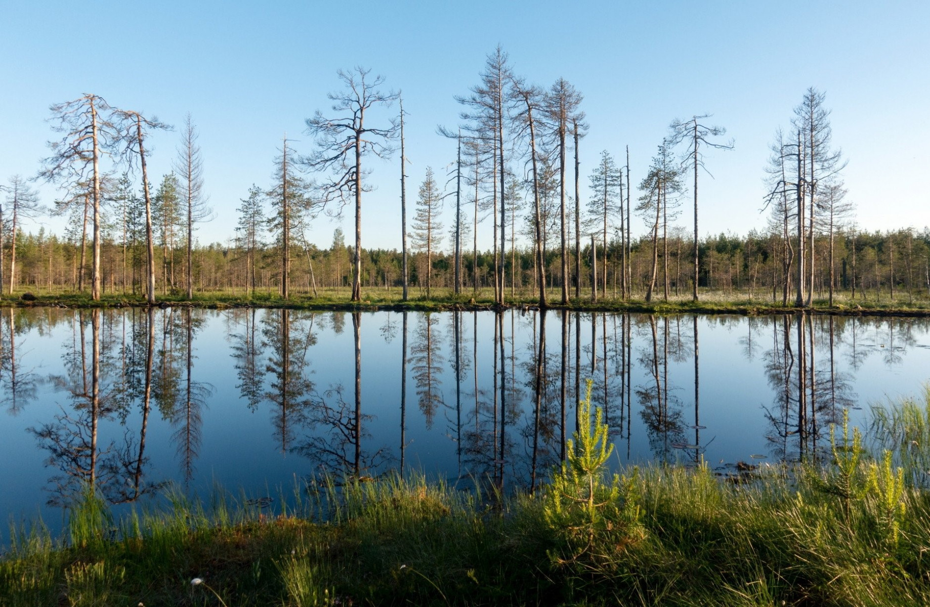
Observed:
[[[17,266],[20,290],[60,291],[81,288],[81,274],[88,272],[88,256],[82,255],[80,243],[74,244],[45,231],[20,232]],[[658,246],[658,287],[655,298],[684,296],[692,286],[690,265],[693,241],[681,233]],[[753,298],[791,302],[794,296],[792,276],[785,272],[784,243],[776,233],[751,232],[747,236],[720,234],[698,243],[701,288],[714,291],[750,294]],[[829,297],[830,288],[846,292],[847,297],[870,300],[902,300],[930,295],[930,230],[891,232],[841,231],[833,238],[832,276],[830,272],[830,238],[815,241],[815,291]],[[665,251],[668,251],[666,254]],[[327,248],[304,244],[296,251],[291,265],[293,293],[313,295],[314,288],[339,288],[352,285],[352,247],[344,244],[337,230]],[[622,297],[619,281],[621,247],[618,240],[604,246],[597,244],[598,292],[605,297]],[[101,247],[103,291],[140,295],[145,284],[145,245],[141,240],[122,243],[105,240]],[[182,293],[184,284],[183,247],[155,248],[158,259],[156,289],[160,294]],[[631,245],[632,297],[642,297],[651,279],[653,246],[644,236]],[[400,287],[402,256],[396,250],[363,249],[362,279],[365,287]],[[491,251],[462,251],[461,291],[491,288],[494,254]],[[504,259],[505,297],[535,297],[538,284],[536,256],[531,247],[517,244],[506,251]],[[591,244],[582,248],[581,288],[591,294]],[[82,265],[82,259],[84,264]],[[410,256],[411,296],[426,291],[427,256]],[[279,246],[259,247],[254,251],[254,266],[242,246],[210,244],[193,247],[194,291],[271,291],[281,285],[281,251]],[[556,250],[546,253],[547,284],[561,286],[561,256]],[[574,264],[574,256],[569,259]],[[7,256],[7,271],[9,270]],[[455,257],[447,252],[433,252],[430,260],[432,287],[454,289]],[[253,271],[254,268],[254,271]],[[574,283],[570,284],[574,288]],[[346,291],[348,294],[348,290]]]

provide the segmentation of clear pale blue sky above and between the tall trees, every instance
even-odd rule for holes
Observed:
[[[827,93],[859,225],[923,228],[928,28],[930,3],[919,1],[0,0],[0,179],[35,174],[53,137],[51,103],[93,92],[176,126],[191,112],[217,213],[199,240],[225,241],[248,187],[269,185],[281,137],[309,152],[304,119],[326,111],[338,68],[364,65],[403,89],[412,197],[427,165],[438,173],[454,159],[436,125],[457,124],[453,97],[477,82],[499,43],[527,80],[549,86],[563,76],[584,94],[583,184],[601,150],[620,154],[626,145],[638,182],[672,118],[712,112],[736,150],[709,154],[702,237],[764,227],[767,144],[807,86]],[[153,181],[169,170],[178,137],[153,141]],[[399,161],[369,166],[377,190],[365,195],[363,243],[399,248]],[[41,193],[46,204],[56,195],[48,186]],[[61,230],[60,219],[43,221]],[[679,222],[687,226],[687,214]],[[319,219],[312,240],[329,244],[337,225]],[[350,234],[348,219],[344,227]],[[640,220],[633,227],[644,231]]]

